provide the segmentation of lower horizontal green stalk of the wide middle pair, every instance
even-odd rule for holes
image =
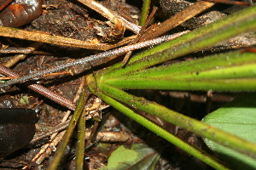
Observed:
[[[171,90],[215,90],[215,91],[256,91],[256,79],[182,79],[140,77],[120,78],[115,83],[124,89],[171,89]],[[123,81],[123,82],[121,82]]]

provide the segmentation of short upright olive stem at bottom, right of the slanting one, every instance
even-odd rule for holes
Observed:
[[[78,146],[76,151],[76,170],[84,169],[85,121],[85,116],[80,116]]]

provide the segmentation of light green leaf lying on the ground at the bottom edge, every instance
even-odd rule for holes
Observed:
[[[146,144],[132,144],[131,149],[121,145],[108,158],[102,170],[154,170],[160,155]]]

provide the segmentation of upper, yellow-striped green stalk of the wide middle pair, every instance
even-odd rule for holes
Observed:
[[[254,66],[256,63],[255,55],[255,53],[242,53],[241,50],[236,50],[229,53],[206,56],[201,59],[177,62],[172,65],[153,67],[143,71],[137,71],[135,73],[126,73],[125,75],[122,75],[122,77],[166,77],[166,75],[171,74],[172,77],[255,77],[255,72],[250,69],[248,69],[249,72],[236,71],[240,68],[242,70],[247,69],[247,65]],[[225,72],[228,68],[231,69],[231,72]],[[234,69],[236,73],[234,73],[232,69]],[[223,76],[223,74],[225,74],[226,76]],[[239,76],[236,76],[237,74],[239,74]]]

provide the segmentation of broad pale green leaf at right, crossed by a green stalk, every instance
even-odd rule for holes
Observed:
[[[203,122],[256,143],[256,95],[236,99],[228,105],[207,115]],[[256,160],[235,150],[230,150],[209,139],[207,146],[218,153],[234,169],[256,169]]]

